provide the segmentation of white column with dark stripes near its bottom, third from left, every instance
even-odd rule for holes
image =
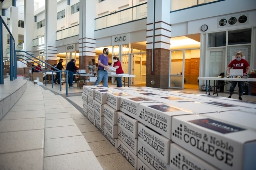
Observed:
[[[57,30],[57,0],[45,1],[45,43],[44,59],[57,60],[56,30]]]

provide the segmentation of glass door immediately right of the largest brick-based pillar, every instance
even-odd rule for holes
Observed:
[[[184,88],[185,51],[171,51],[170,88]]]

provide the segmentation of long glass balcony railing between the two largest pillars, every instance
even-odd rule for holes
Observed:
[[[108,28],[147,17],[147,2],[95,18],[95,30]]]

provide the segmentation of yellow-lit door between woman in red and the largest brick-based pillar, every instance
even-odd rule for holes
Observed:
[[[133,84],[141,84],[141,65],[142,57],[140,55],[133,55],[133,74],[136,76],[133,78]]]

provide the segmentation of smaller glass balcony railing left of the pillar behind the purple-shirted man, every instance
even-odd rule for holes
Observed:
[[[61,40],[75,35],[79,35],[79,24],[60,31],[56,31],[56,40]]]

